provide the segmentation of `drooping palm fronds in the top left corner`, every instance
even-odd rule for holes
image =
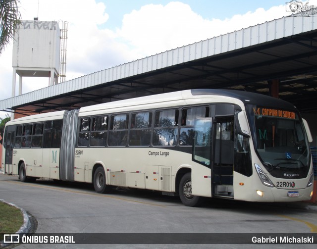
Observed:
[[[20,0],[0,0],[0,54],[18,29],[21,20],[18,3]]]

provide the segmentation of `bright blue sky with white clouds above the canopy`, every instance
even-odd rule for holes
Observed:
[[[285,2],[20,0],[19,11],[22,20],[68,22],[67,81],[288,16]],[[309,4],[317,5],[317,0]],[[0,100],[12,96],[12,44],[0,54]],[[18,81],[17,76],[16,95]],[[22,94],[48,86],[49,78],[23,77]]]

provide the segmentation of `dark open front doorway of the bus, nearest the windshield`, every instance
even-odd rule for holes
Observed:
[[[216,117],[212,166],[214,196],[233,198],[234,117]]]

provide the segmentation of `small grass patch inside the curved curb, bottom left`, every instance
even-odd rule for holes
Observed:
[[[3,234],[16,233],[23,223],[23,214],[19,208],[0,201],[0,241],[3,241]]]

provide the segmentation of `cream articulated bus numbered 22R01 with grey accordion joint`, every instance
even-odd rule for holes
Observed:
[[[2,168],[49,178],[206,197],[300,201],[313,195],[307,122],[283,100],[196,89],[9,121]]]

